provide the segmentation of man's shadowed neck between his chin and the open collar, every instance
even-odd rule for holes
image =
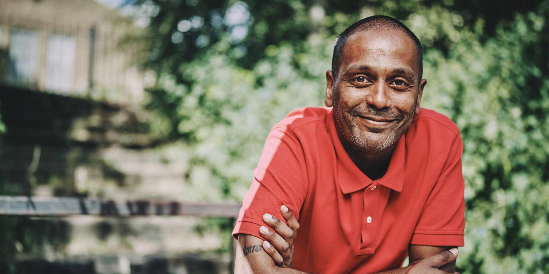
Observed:
[[[352,147],[344,140],[341,140],[341,144],[352,162],[371,180],[377,180],[385,175],[396,146],[394,144],[383,151],[363,151]]]

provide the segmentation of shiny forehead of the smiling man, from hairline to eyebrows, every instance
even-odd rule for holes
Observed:
[[[379,70],[405,67],[416,74],[419,65],[416,45],[402,31],[387,28],[358,31],[345,42],[340,71],[355,65]]]

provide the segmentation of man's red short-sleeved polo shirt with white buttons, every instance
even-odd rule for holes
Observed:
[[[272,129],[233,236],[262,238],[265,213],[298,219],[295,269],[322,274],[401,267],[408,244],[463,246],[463,144],[449,118],[421,109],[372,181],[335,131],[331,108],[295,110]],[[268,226],[267,226],[268,227]]]

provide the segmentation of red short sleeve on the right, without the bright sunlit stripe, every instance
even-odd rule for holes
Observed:
[[[461,168],[462,152],[463,142],[458,133],[452,142],[442,172],[419,216],[411,244],[463,246],[465,186]]]

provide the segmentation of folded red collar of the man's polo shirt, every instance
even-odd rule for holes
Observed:
[[[343,145],[337,130],[335,130],[335,122],[333,109],[330,109],[327,115],[327,124],[329,134],[332,136],[332,142],[334,144],[336,161],[337,161],[337,177],[339,187],[343,193],[351,193],[357,190],[361,190],[372,183],[389,187],[389,189],[401,192],[402,185],[404,184],[404,159],[406,155],[405,135],[397,141],[393,155],[389,162],[389,168],[385,175],[378,180],[372,181],[366,174],[364,174],[356,164],[351,160]]]

